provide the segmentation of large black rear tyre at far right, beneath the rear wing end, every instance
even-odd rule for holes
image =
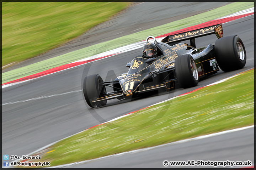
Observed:
[[[217,64],[224,72],[244,68],[245,46],[237,35],[226,36],[215,41]]]

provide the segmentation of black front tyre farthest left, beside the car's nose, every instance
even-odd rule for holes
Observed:
[[[106,94],[106,87],[103,85],[103,80],[98,74],[89,75],[84,79],[83,92],[85,101],[92,107],[100,107],[107,104],[107,101],[95,101],[97,98],[104,97]]]

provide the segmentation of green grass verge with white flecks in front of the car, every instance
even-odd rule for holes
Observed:
[[[254,124],[254,70],[86,130],[42,161],[68,164]]]

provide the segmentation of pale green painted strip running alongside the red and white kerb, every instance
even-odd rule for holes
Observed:
[[[235,2],[229,5],[225,5],[223,7],[207,11],[205,13],[201,13],[192,17],[184,18],[175,22],[167,23],[165,25],[154,27],[148,30],[144,30],[138,33],[134,33],[131,35],[123,36],[121,38],[117,38],[111,41],[102,42],[100,44],[92,45],[90,47],[86,47],[84,49],[80,49],[74,52],[66,53],[64,55],[60,55],[54,58],[50,58],[48,60],[31,64],[29,66],[25,66],[22,68],[18,68],[15,70],[11,70],[9,72],[5,72],[2,74],[2,82],[7,83],[12,80],[16,80],[28,75],[32,75],[35,73],[42,72],[44,70],[48,70],[54,67],[62,66],[64,64],[68,64],[77,60],[81,60],[86,57],[90,57],[92,55],[96,55],[98,53],[115,49],[117,47],[125,46],[128,44],[132,44],[134,42],[138,42],[141,40],[145,40],[147,36],[159,36],[162,34],[170,33],[175,30],[179,30],[182,28],[194,26],[196,24],[200,24],[203,22],[211,21],[213,19],[217,19],[226,15],[230,15],[232,13],[245,10],[254,6],[253,2]],[[225,28],[224,28],[225,29]],[[225,31],[225,30],[224,30]],[[102,48],[104,47],[104,48]]]

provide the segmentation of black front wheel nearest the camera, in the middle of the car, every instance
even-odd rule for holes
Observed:
[[[175,74],[178,83],[183,88],[194,87],[198,84],[197,67],[191,55],[182,55],[175,59]]]

